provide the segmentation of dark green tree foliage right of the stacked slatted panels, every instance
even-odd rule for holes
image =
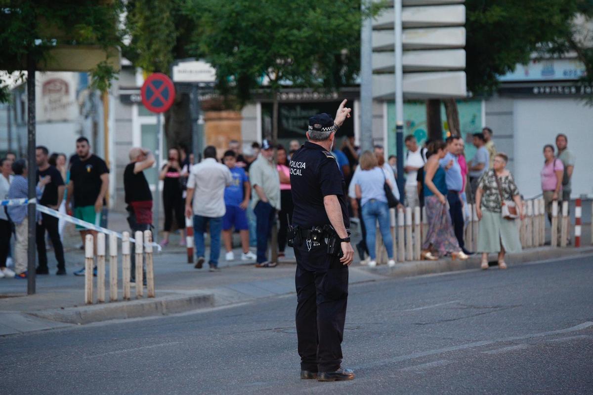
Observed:
[[[488,93],[542,44],[565,42],[583,0],[467,0],[467,86]],[[590,2],[588,2],[590,3]],[[566,47],[565,47],[566,48]]]

